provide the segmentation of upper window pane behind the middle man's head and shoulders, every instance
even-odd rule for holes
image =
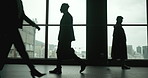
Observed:
[[[60,23],[62,3],[69,4],[74,24],[86,24],[86,0],[49,0],[49,24]]]

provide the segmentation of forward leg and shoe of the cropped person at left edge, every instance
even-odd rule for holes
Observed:
[[[45,75],[45,74],[40,73],[38,70],[36,70],[33,63],[30,61],[19,31],[15,35],[16,36],[15,36],[15,40],[14,40],[14,46],[17,49],[17,51],[19,52],[22,59],[26,62],[26,64],[30,68],[31,76],[34,78],[35,76],[41,77],[41,76]]]

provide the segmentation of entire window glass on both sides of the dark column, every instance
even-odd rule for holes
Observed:
[[[20,30],[30,58],[56,58],[62,3],[69,4],[73,16],[76,41],[75,53],[86,58],[86,2],[87,0],[22,0],[25,14],[37,23],[38,31],[24,21]],[[49,2],[49,3],[47,3]],[[108,58],[111,56],[113,26],[117,16],[123,16],[123,28],[127,37],[128,59],[148,59],[146,0],[107,0]],[[103,8],[102,8],[103,9]],[[20,58],[12,46],[10,58]]]

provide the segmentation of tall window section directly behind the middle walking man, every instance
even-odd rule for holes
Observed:
[[[69,4],[69,12],[73,17],[76,41],[72,42],[75,53],[86,58],[86,0],[49,0],[49,58],[56,58],[58,45],[59,24],[63,13],[60,12],[62,3]]]

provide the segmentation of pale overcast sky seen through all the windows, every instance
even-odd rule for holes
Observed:
[[[46,0],[22,0],[24,10],[31,19],[37,18],[38,24],[45,24]],[[115,24],[117,16],[123,16],[123,24],[146,24],[146,0],[108,0],[107,22]],[[86,24],[86,0],[49,0],[49,24],[59,24],[62,17],[60,6],[62,3],[70,5],[69,12],[73,16],[74,24]],[[147,28],[124,27],[127,44],[136,46],[147,45]],[[59,27],[49,27],[49,43],[57,44]],[[73,46],[86,49],[86,27],[74,27],[76,41]],[[36,32],[36,39],[44,42],[45,28]],[[112,44],[113,27],[108,27],[108,45]]]

